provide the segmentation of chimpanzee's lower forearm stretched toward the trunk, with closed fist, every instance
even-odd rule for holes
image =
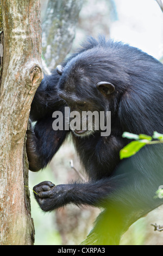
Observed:
[[[75,183],[55,186],[50,181],[43,181],[36,185],[33,190],[37,193],[34,193],[34,196],[43,211],[52,211],[70,203],[106,207],[110,200],[128,206],[133,205],[133,208],[137,208],[139,205],[141,209],[142,205],[142,209],[144,209],[146,204],[147,206],[150,205],[148,197],[149,201],[152,202],[152,196],[154,197],[158,187],[152,189],[149,187],[150,184],[147,184],[146,194],[142,195],[142,191],[136,189],[137,187],[141,188],[146,183],[146,179],[142,175],[139,178],[139,183],[136,183],[136,174],[124,173],[87,184]],[[153,200],[153,203],[155,202]]]

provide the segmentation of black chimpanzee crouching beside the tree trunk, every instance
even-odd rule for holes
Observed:
[[[114,245],[128,227],[163,202],[154,199],[163,185],[163,148],[146,145],[120,161],[120,150],[130,141],[124,131],[163,133],[163,65],[122,42],[87,39],[76,53],[41,82],[30,111],[37,121],[27,131],[29,169],[40,170],[52,160],[68,134],[89,181],[55,186],[43,181],[33,189],[43,211],[66,204],[104,208],[86,244]],[[101,130],[58,130],[54,111],[111,111],[111,133]]]

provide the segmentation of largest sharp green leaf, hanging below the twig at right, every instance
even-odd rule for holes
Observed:
[[[133,141],[126,145],[123,149],[120,151],[120,159],[124,159],[130,156],[135,155],[142,147],[146,145],[145,142],[140,141]]]

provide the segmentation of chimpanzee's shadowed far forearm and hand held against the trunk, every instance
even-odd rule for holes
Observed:
[[[45,168],[64,142],[68,131],[54,131],[54,118],[45,117],[37,121],[34,129],[27,130],[27,156],[29,169],[33,172]]]

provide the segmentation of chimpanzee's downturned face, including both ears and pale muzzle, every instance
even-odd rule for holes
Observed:
[[[58,70],[59,69],[59,70]],[[108,111],[108,95],[114,92],[114,86],[88,76],[84,69],[64,71],[58,66],[61,75],[59,96],[70,107],[70,129],[79,137],[90,136],[100,131],[101,112]]]

